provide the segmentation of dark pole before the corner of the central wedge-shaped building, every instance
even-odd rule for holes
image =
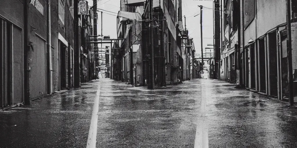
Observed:
[[[154,33],[153,33],[153,25],[154,25],[154,21],[153,21],[153,11],[154,11],[154,7],[153,7],[153,0],[150,0],[150,33],[151,33],[151,82],[149,85],[149,89],[155,89],[155,70],[154,70]]]

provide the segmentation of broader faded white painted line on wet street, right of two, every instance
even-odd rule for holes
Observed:
[[[205,85],[201,87],[201,117],[198,118],[196,127],[194,148],[208,148],[208,127],[206,121],[206,90]]]

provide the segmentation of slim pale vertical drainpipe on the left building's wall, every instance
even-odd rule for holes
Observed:
[[[50,0],[48,0],[48,59],[49,59],[49,72],[50,72],[50,88],[49,88],[49,94],[52,94],[53,92],[53,65],[52,65],[52,49],[51,49],[51,26],[50,26]]]

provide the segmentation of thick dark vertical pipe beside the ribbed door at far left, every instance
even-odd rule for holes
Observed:
[[[29,1],[24,0],[24,104],[30,105],[30,83],[29,83],[29,52],[30,46],[29,43],[29,34],[28,34],[28,9],[29,9]]]

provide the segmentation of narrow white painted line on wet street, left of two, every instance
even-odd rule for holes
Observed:
[[[94,100],[94,107],[93,107],[90,130],[89,130],[87,148],[95,148],[96,147],[98,112],[99,112],[99,96],[100,96],[100,82],[99,82],[97,94],[96,94],[96,97]]]

